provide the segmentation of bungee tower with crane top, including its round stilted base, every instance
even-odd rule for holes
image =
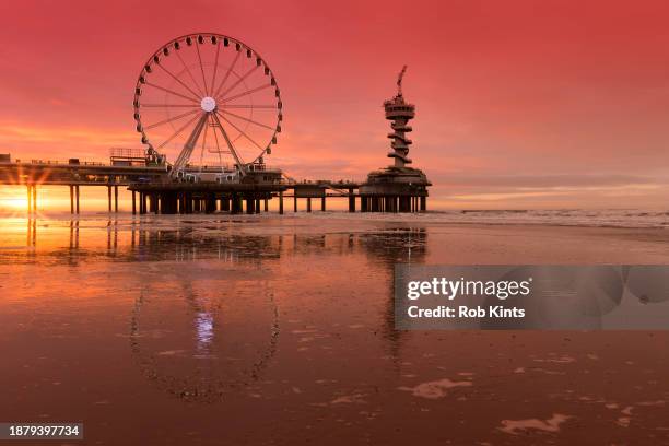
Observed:
[[[409,121],[415,117],[415,105],[404,101],[402,78],[407,66],[402,68],[397,80],[397,95],[384,102],[386,119],[390,120],[392,132],[388,157],[394,164],[367,175],[367,181],[360,187],[362,212],[424,212],[427,209],[427,180],[418,168],[408,167],[409,145],[412,141],[407,133],[412,130]]]

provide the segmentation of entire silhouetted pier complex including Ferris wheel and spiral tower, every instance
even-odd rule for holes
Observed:
[[[210,56],[215,58],[212,67],[201,59],[200,51],[207,48],[212,51]],[[187,54],[200,68],[201,83],[196,82],[187,68],[180,70],[184,63],[181,58]],[[222,70],[225,68],[224,74],[218,70],[223,54],[232,58],[232,64],[220,67]],[[235,69],[238,59],[245,60],[250,68],[235,71],[240,69]],[[172,67],[172,70],[178,75],[171,71],[169,62],[176,67]],[[177,68],[179,71],[176,71]],[[398,78],[397,95],[384,103],[386,119],[392,121],[392,132],[388,133],[392,140],[388,156],[394,159],[394,165],[369,173],[362,184],[329,179],[296,181],[280,168],[266,165],[265,159],[277,143],[283,120],[277,80],[267,62],[251,48],[232,37],[206,33],[171,40],[153,54],[141,71],[136,84],[133,108],[137,131],[141,133],[141,141],[146,148],[114,148],[108,164],[84,162],[78,157],[71,157],[67,163],[50,160],[12,161],[9,153],[3,153],[0,154],[0,186],[26,186],[30,213],[37,212],[38,186],[69,187],[71,213],[80,212],[81,186],[106,187],[109,212],[118,212],[118,188],[127,187],[131,192],[133,214],[260,213],[268,212],[269,201],[273,198],[279,201],[280,214],[284,213],[284,198],[293,199],[294,212],[297,212],[298,199],[306,199],[307,212],[313,210],[313,200],[320,201],[320,211],[326,211],[328,197],[345,199],[349,212],[356,211],[356,197],[361,199],[362,212],[424,211],[427,186],[431,184],[423,172],[407,166],[411,164],[408,156],[411,140],[407,138],[411,127],[408,124],[415,115],[415,107],[404,102],[402,96],[406,69]],[[211,77],[206,75],[208,70],[212,71]],[[157,77],[159,73],[166,78]],[[242,81],[250,73],[256,73],[263,83],[256,87],[246,86]],[[219,74],[222,78],[214,82]],[[155,83],[159,81],[154,82],[154,78],[166,83]],[[237,80],[233,81],[235,78]],[[226,84],[227,81],[231,85]],[[152,96],[156,91],[160,95]],[[254,94],[260,93],[266,94],[263,101],[250,101]],[[254,109],[258,113],[265,110],[267,122],[260,121],[253,114]],[[155,110],[162,110],[168,118],[153,116]],[[250,129],[262,132],[254,137]],[[185,140],[177,142],[179,138]],[[156,148],[151,141],[155,142]],[[245,152],[242,151],[244,143],[247,146]],[[159,153],[159,149],[167,144],[181,145],[174,164]],[[199,151],[200,162],[191,164],[196,150]],[[207,153],[213,154],[213,165],[202,162]],[[224,163],[224,154],[232,157],[232,166]],[[251,161],[244,162],[244,159]]]

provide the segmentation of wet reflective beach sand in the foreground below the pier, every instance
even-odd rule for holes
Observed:
[[[107,445],[669,444],[669,332],[396,331],[391,281],[396,262],[669,263],[666,230],[0,226],[1,421]]]

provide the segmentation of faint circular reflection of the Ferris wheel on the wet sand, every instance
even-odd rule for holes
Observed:
[[[257,382],[279,341],[271,293],[255,293],[240,306],[234,293],[215,297],[211,290],[190,281],[183,296],[143,289],[130,320],[130,348],[142,373],[187,401],[214,402]]]

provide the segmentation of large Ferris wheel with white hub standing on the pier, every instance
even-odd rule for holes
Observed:
[[[202,33],[178,37],[144,64],[134,119],[150,151],[179,151],[173,173],[262,164],[281,131],[274,75],[250,47]]]

